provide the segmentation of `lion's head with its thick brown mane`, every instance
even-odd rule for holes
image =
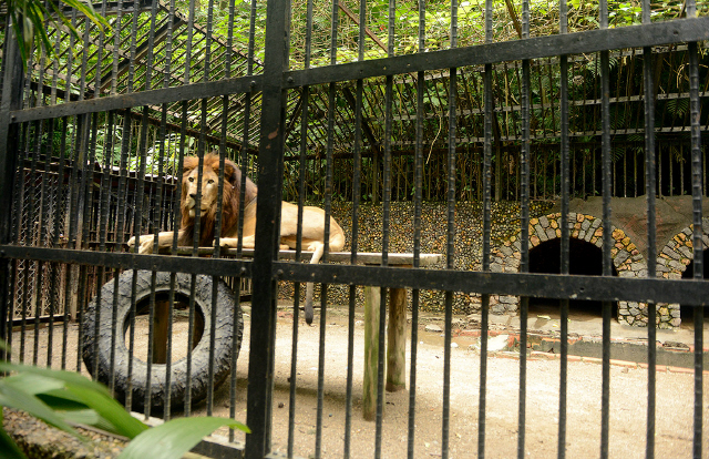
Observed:
[[[184,160],[182,175],[182,211],[181,230],[185,231],[181,245],[192,245],[196,204],[197,184],[199,178],[199,159],[187,156]],[[242,186],[242,171],[229,160],[224,161],[224,194],[222,196],[222,234],[238,222],[239,190]],[[214,227],[217,218],[217,194],[219,190],[219,156],[206,154],[202,169],[202,195],[199,202],[199,245],[210,246],[214,239]],[[246,196],[249,203],[258,193],[258,188],[250,178],[246,178]]]

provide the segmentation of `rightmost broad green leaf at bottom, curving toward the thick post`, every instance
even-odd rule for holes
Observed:
[[[181,458],[199,440],[223,426],[250,434],[248,427],[233,419],[213,417],[173,419],[137,436],[123,450],[119,459]]]

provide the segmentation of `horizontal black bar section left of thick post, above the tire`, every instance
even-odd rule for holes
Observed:
[[[119,269],[152,269],[167,273],[206,274],[209,276],[251,277],[251,262],[233,258],[136,255],[117,252],[0,245],[1,258],[71,263]]]

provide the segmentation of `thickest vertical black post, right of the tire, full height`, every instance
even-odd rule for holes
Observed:
[[[276,340],[276,282],[273,263],[278,256],[280,190],[284,153],[286,93],[282,73],[288,69],[289,18],[281,3],[268,2],[266,50],[259,135],[259,203],[253,262],[253,307],[247,399],[246,456],[270,451],[274,348]],[[284,39],[286,37],[286,39]]]

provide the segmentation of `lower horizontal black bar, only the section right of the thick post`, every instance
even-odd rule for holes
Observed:
[[[543,298],[709,305],[707,280],[487,273],[276,262],[278,280],[372,285]]]

